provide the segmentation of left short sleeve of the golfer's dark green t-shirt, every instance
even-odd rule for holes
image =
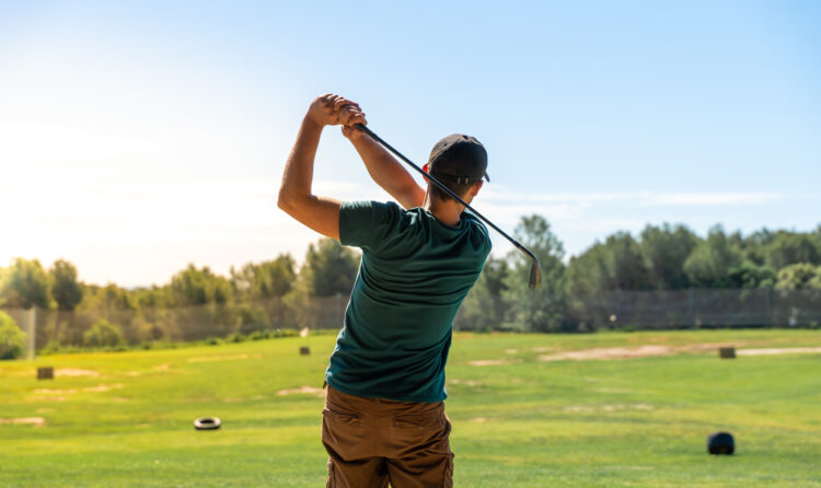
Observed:
[[[343,201],[339,207],[339,243],[374,251],[398,221],[394,202]]]

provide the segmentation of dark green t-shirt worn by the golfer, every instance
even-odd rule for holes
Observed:
[[[362,249],[325,377],[349,395],[441,402],[453,318],[490,253],[470,211],[456,226],[423,208],[346,201],[339,242]]]

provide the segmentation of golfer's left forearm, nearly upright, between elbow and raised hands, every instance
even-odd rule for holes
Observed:
[[[311,195],[313,161],[320,144],[322,126],[305,117],[299,128],[297,141],[288,155],[279,187],[280,205]]]

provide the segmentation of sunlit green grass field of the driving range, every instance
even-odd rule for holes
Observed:
[[[818,347],[821,333],[458,334],[447,400],[456,486],[821,487],[821,353],[719,360],[714,345],[728,342]],[[299,355],[305,344],[311,356]],[[323,400],[311,388],[333,344],[0,362],[0,486],[324,486]],[[544,360],[641,345],[675,353]],[[35,365],[58,376],[36,381]],[[199,416],[222,429],[195,431]],[[736,435],[737,455],[706,454],[716,430]]]

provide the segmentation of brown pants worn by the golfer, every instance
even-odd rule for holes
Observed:
[[[361,398],[327,387],[322,443],[327,488],[453,486],[444,403]]]

